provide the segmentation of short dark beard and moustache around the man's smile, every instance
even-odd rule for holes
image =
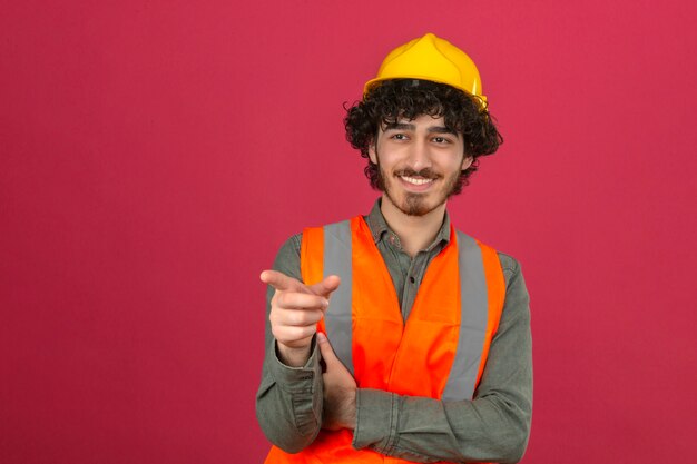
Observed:
[[[394,197],[394,182],[397,181],[395,178],[405,176],[405,177],[422,177],[425,179],[440,179],[441,175],[433,171],[431,168],[425,168],[420,171],[415,171],[413,169],[400,169],[394,171],[394,174],[389,175],[382,169],[380,166],[380,159],[377,162],[377,176],[379,176],[379,188],[384,191],[387,196],[387,199],[392,201],[394,206],[396,206],[402,213],[406,216],[425,216],[432,210],[436,209],[441,205],[443,205],[448,198],[452,197],[460,187],[460,171],[452,174],[450,177],[444,178],[444,185],[440,189],[440,191],[431,192],[431,195],[435,194],[438,197],[435,198],[435,204],[429,204],[429,194],[428,192],[414,192],[408,191],[404,194],[403,201],[399,201]]]

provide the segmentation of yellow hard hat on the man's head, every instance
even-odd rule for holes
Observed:
[[[446,83],[487,101],[474,61],[464,51],[433,33],[392,50],[380,66],[377,77],[365,83],[363,95],[367,95],[375,82],[405,78]]]

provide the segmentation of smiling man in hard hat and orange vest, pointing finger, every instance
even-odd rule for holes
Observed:
[[[532,407],[524,280],[445,210],[502,140],[474,63],[431,33],[412,40],[345,126],[382,197],[292,237],[262,273],[266,462],[519,461]]]

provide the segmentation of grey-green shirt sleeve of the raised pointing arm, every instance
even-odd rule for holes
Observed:
[[[291,237],[279,249],[273,268],[302,280],[301,236]],[[262,382],[256,394],[256,417],[264,434],[285,452],[297,453],[310,445],[322,426],[323,384],[320,354],[313,338],[310,359],[289,367],[277,356],[268,315],[274,289],[266,292],[266,352]]]

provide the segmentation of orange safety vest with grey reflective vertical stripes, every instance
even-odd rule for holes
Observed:
[[[450,243],[429,265],[406,323],[392,277],[363,217],[307,228],[303,280],[338,275],[318,329],[359,388],[443,401],[472,399],[499,327],[505,283],[497,251],[451,226]],[[409,463],[354,450],[353,432],[320,431],[297,454],[273,446],[266,464]]]

